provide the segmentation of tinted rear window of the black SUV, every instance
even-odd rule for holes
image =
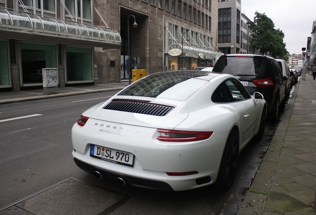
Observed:
[[[270,77],[268,60],[264,57],[220,57],[213,72],[227,73],[233,76],[253,76],[252,79]]]

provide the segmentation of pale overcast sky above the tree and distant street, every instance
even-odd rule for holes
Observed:
[[[302,53],[316,19],[316,0],[241,0],[241,12],[251,21],[256,11],[265,13],[274,28],[283,31],[290,54]]]

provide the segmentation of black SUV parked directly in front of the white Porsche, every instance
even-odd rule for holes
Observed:
[[[250,95],[261,93],[268,105],[268,116],[272,120],[278,118],[279,107],[286,99],[286,88],[282,71],[274,58],[252,54],[222,55],[213,71],[236,76]]]

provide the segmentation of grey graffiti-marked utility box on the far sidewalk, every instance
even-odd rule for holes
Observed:
[[[44,95],[58,94],[57,68],[42,68]]]

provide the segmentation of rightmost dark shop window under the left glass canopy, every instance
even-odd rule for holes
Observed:
[[[67,83],[92,82],[93,65],[92,49],[66,47],[67,54]]]

